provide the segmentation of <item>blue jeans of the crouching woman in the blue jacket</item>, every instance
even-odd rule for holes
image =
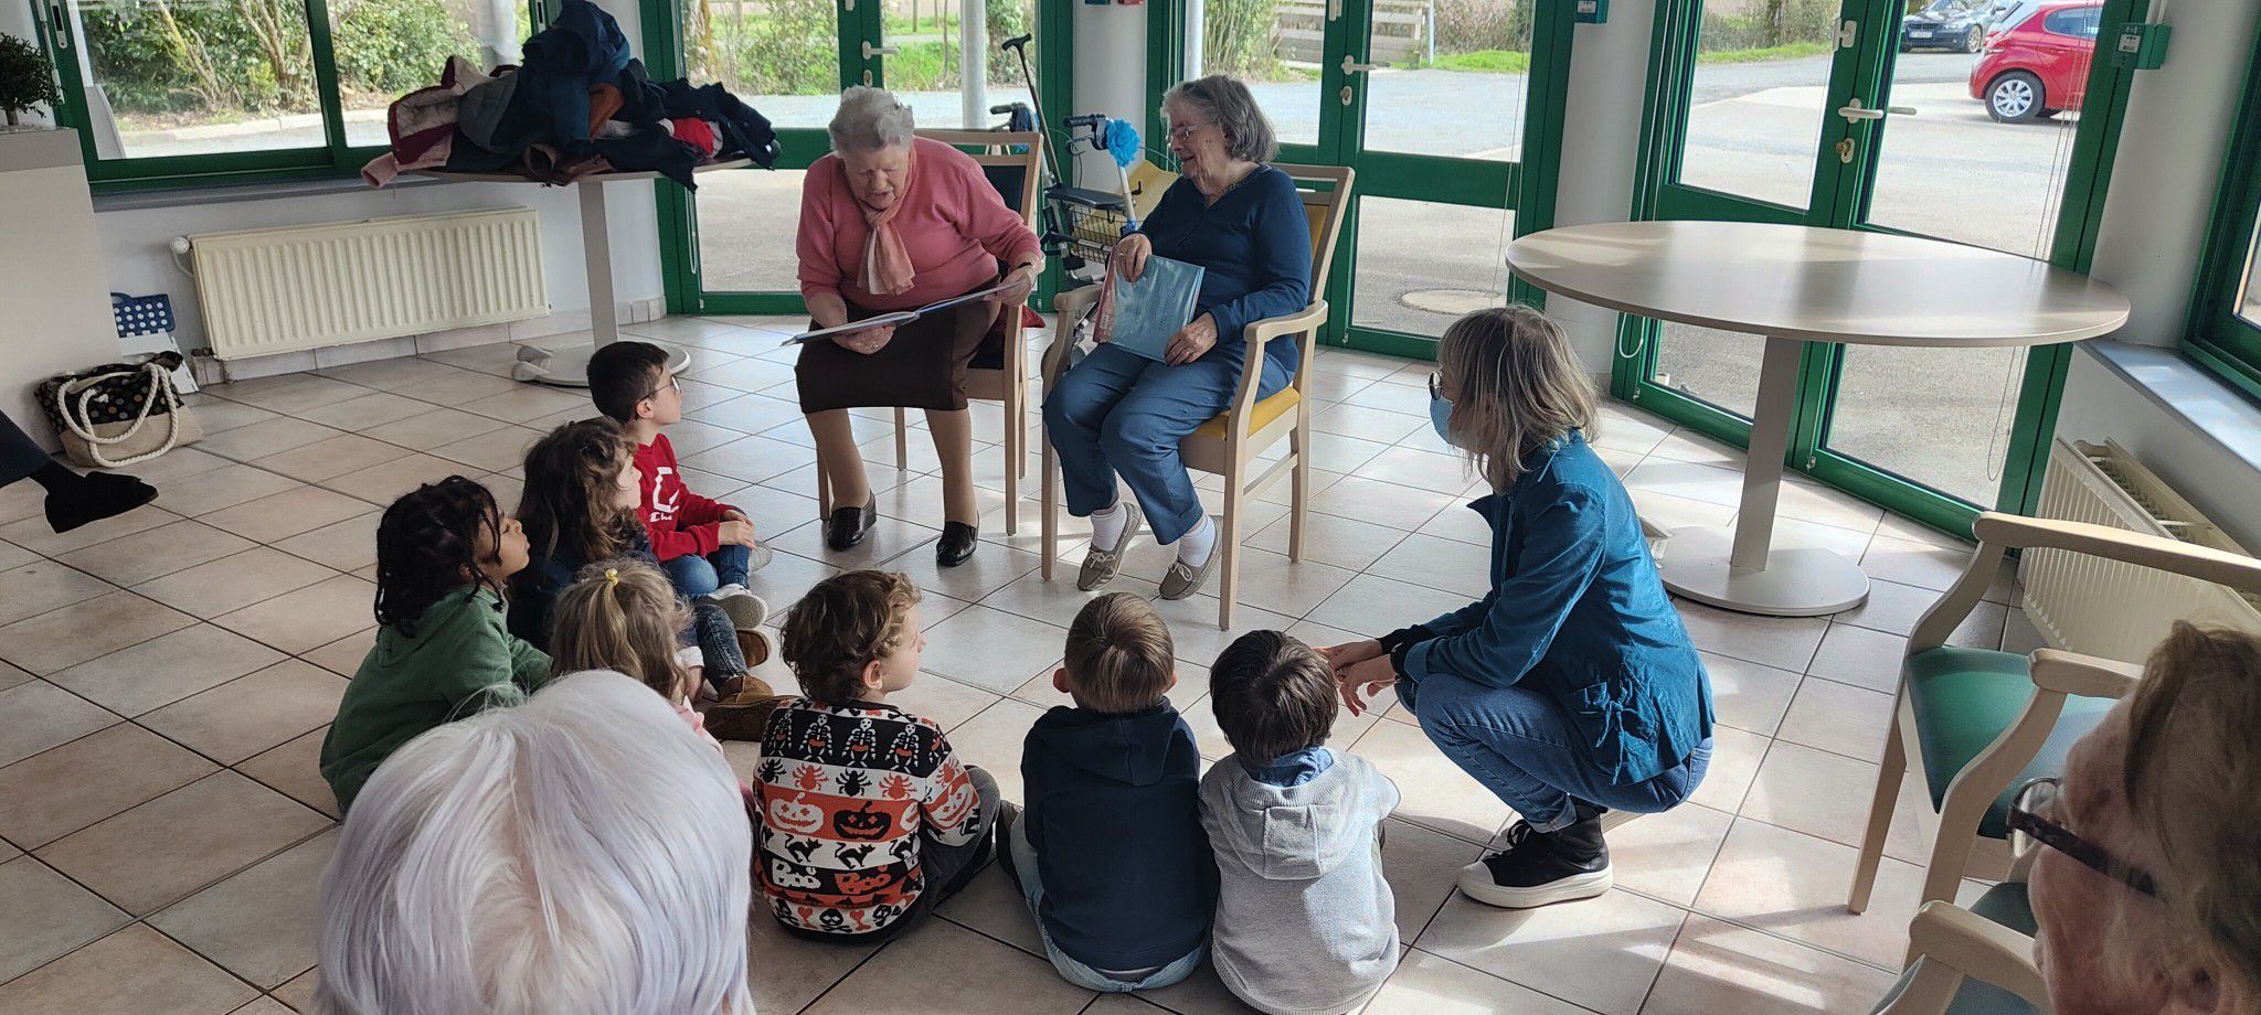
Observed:
[[[1574,796],[1632,814],[1673,809],[1703,784],[1712,764],[1712,737],[1705,737],[1678,766],[1644,782],[1614,784],[1578,748],[1569,714],[1540,692],[1429,674],[1418,687],[1400,683],[1397,696],[1445,757],[1540,832],[1576,821]]]

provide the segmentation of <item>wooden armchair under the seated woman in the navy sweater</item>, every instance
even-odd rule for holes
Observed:
[[[1219,628],[1232,626],[1232,604],[1239,595],[1241,538],[1246,536],[1239,518],[1241,504],[1268,491],[1284,475],[1293,477],[1287,556],[1289,561],[1302,561],[1302,522],[1311,500],[1311,398],[1307,391],[1311,357],[1318,353],[1318,328],[1327,323],[1327,301],[1318,298],[1318,294],[1327,292],[1327,267],[1334,264],[1334,240],[1341,235],[1343,208],[1350,201],[1354,179],[1350,167],[1343,165],[1280,165],[1280,170],[1296,179],[1296,190],[1302,194],[1302,210],[1311,217],[1311,303],[1296,314],[1248,323],[1241,335],[1248,341],[1248,364],[1253,368],[1241,371],[1241,387],[1232,396],[1232,407],[1178,443],[1185,468],[1225,477],[1225,511],[1216,547],[1219,554],[1225,554],[1219,561]],[[1097,285],[1065,292],[1051,301],[1058,321],[1051,332],[1051,346],[1045,348],[1045,391],[1051,391],[1060,382],[1060,375],[1067,373],[1074,321],[1097,301]],[[1302,346],[1296,378],[1289,380],[1287,389],[1257,402],[1257,384],[1264,380],[1264,371],[1259,368],[1264,346],[1284,337],[1293,337]],[[1264,475],[1248,479],[1248,466],[1257,461],[1257,454],[1280,443],[1282,436],[1289,439],[1289,454],[1266,468]],[[1060,475],[1051,441],[1042,445],[1042,574],[1045,581],[1051,581],[1060,554]]]

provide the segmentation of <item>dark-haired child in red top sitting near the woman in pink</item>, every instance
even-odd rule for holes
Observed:
[[[635,441],[642,500],[635,509],[651,540],[651,556],[685,597],[710,597],[724,608],[753,597],[746,574],[769,563],[755,545],[744,511],[692,493],[667,443],[683,420],[683,387],[667,371],[667,350],[649,341],[615,341],[588,357],[588,393]]]

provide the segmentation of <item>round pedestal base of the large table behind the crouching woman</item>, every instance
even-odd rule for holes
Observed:
[[[1820,617],[1868,601],[1868,574],[1822,547],[1777,545],[1766,570],[1727,563],[1734,529],[1673,529],[1657,558],[1664,588],[1723,610]]]

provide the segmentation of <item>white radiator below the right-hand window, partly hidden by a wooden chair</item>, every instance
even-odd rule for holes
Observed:
[[[2058,439],[2042,518],[2094,522],[2245,554],[2121,445]],[[2177,619],[2261,633],[2261,601],[2211,581],[2062,549],[2028,549],[2024,606],[2058,649],[2143,662]]]

